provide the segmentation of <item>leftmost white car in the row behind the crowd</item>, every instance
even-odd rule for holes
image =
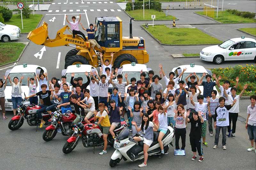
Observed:
[[[28,77],[34,78],[36,76],[36,73],[45,73],[47,72],[46,68],[41,67],[39,65],[17,65],[14,66],[10,70],[6,70],[5,75],[9,75],[11,77],[11,80],[13,82],[14,77],[18,77],[20,80],[21,76],[24,76],[24,79],[22,80],[21,90],[22,90],[22,98],[24,99],[24,93],[26,96],[28,96]],[[37,92],[39,92],[39,84],[36,88]],[[9,80],[7,79],[7,85],[4,90],[5,95],[5,110],[11,111],[12,110],[12,86],[10,85]],[[29,101],[26,101],[25,104],[29,104]]]

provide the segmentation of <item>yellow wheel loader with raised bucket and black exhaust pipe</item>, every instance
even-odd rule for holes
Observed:
[[[104,61],[106,59],[110,61],[110,53],[114,53],[113,68],[119,68],[123,64],[133,62],[144,64],[149,61],[144,39],[142,37],[132,37],[132,19],[130,20],[130,37],[123,37],[122,20],[119,17],[96,17],[95,19],[95,25],[97,26],[97,31],[94,33],[95,40],[105,51],[103,54]],[[65,34],[66,30],[70,34]],[[79,35],[73,38],[69,26],[61,28],[55,39],[50,39],[48,37],[48,24],[44,22],[41,27],[30,31],[27,38],[35,44],[47,47],[74,47],[75,49],[71,49],[65,57],[65,69],[74,64],[90,64],[94,67],[101,64],[97,53],[101,50],[96,46],[94,47],[95,50],[90,48],[90,42],[85,41]]]

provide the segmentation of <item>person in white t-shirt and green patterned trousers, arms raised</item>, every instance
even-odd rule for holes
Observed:
[[[208,112],[208,106],[210,105],[210,97],[208,96],[206,101],[207,103],[204,103],[204,96],[203,95],[198,95],[197,96],[197,101],[194,102],[193,97],[190,96],[190,102],[193,106],[195,106],[196,112],[201,112],[202,117],[204,118],[204,124],[202,124],[202,138],[203,138],[203,145],[208,147],[206,140],[206,130],[207,130],[207,112]]]

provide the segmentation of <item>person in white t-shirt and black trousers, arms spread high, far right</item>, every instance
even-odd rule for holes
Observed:
[[[229,125],[228,125],[228,134],[227,134],[228,137],[231,136],[232,138],[236,138],[235,133],[236,133],[236,121],[237,121],[238,113],[239,113],[239,100],[243,96],[244,91],[245,91],[245,89],[247,89],[247,87],[248,87],[248,85],[245,84],[242,92],[239,95],[236,95],[236,91],[237,91],[236,87],[231,88],[231,90],[230,90],[231,95],[228,95],[226,92],[226,89],[223,87],[225,97],[228,99],[228,104],[233,103],[233,101],[236,99],[236,104],[234,105],[234,107],[232,107],[229,110],[229,113],[228,113],[228,115],[229,115]],[[232,121],[232,132],[231,132],[231,121]]]

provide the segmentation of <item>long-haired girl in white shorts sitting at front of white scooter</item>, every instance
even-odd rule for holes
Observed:
[[[145,133],[145,135],[143,135],[143,137],[141,137],[141,136],[133,137],[133,139],[136,142],[143,141],[143,143],[144,143],[144,145],[143,145],[144,162],[142,164],[140,164],[139,167],[145,167],[145,166],[147,166],[147,160],[148,160],[148,148],[153,143],[153,138],[154,138],[153,127],[155,129],[158,129],[158,126],[156,125],[155,122],[149,121],[148,114],[143,115],[140,127],[138,127],[136,122],[133,122],[133,121],[132,121],[132,125],[135,126],[135,128],[138,132],[140,130],[142,130]]]

